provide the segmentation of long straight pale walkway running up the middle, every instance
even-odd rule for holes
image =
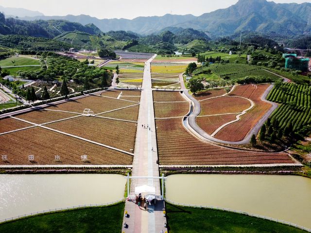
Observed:
[[[134,177],[159,176],[150,67],[150,62],[154,57],[145,63],[132,170],[132,176]],[[133,179],[131,180],[130,196],[135,196],[135,186],[144,184],[155,186],[155,195],[161,195],[159,179]],[[166,232],[167,229],[164,228],[164,221],[166,221],[166,219],[163,216],[163,208],[164,201],[160,199],[156,200],[155,205],[148,205],[146,211],[143,206],[138,207],[138,205],[135,204],[135,200],[126,201],[125,211],[127,211],[129,217],[124,216],[123,223],[126,222],[127,228],[122,227],[122,232],[159,233],[161,230]]]

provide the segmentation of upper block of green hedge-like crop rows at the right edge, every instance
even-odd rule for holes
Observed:
[[[272,89],[267,100],[277,103],[294,103],[296,106],[310,108],[311,86],[282,83]]]

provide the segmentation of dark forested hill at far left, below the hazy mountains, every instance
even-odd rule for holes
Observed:
[[[94,24],[82,25],[80,23],[69,22],[66,20],[35,20],[26,21],[16,18],[5,18],[0,13],[0,34],[18,34],[28,36],[39,36],[45,38],[54,38],[57,35],[66,32],[79,31],[89,34],[99,34],[101,30]]]

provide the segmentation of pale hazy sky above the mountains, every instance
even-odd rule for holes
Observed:
[[[238,0],[0,0],[4,7],[39,11],[46,16],[89,15],[97,18],[135,18],[192,14],[195,16],[226,8]],[[276,3],[310,0],[274,0]]]

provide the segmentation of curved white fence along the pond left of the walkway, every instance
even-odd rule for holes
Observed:
[[[79,209],[79,208],[85,208],[85,207],[100,207],[100,206],[114,205],[114,204],[120,203],[124,200],[125,200],[125,198],[120,199],[120,200],[116,200],[113,202],[102,203],[102,204],[74,205],[74,206],[65,207],[65,208],[55,208],[55,209],[50,209],[50,210],[37,211],[37,212],[30,213],[30,214],[19,215],[19,216],[15,216],[15,217],[9,217],[9,218],[5,218],[5,219],[1,219],[0,223],[12,221],[12,220],[17,220],[17,219],[23,218],[23,217],[36,216],[36,215],[40,215],[40,214],[46,214],[46,213],[57,212],[57,211],[73,210],[73,209]]]

